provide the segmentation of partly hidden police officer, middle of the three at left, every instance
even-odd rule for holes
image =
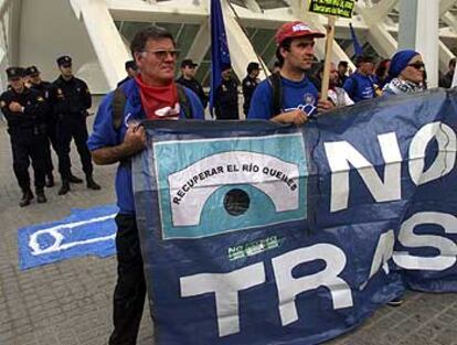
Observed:
[[[44,82],[41,79],[40,71],[36,68],[36,66],[28,67],[25,69],[25,75],[29,77],[30,88],[39,93],[41,97],[43,97],[44,100],[47,103],[49,111],[45,115],[47,143],[45,145],[44,154],[45,154],[46,187],[52,187],[54,185],[54,175],[52,173],[54,170],[54,165],[52,163],[50,143],[52,144],[55,153],[59,154],[57,137],[55,133],[56,123],[55,123],[54,114],[52,112],[52,104],[51,104],[52,85],[51,83]]]

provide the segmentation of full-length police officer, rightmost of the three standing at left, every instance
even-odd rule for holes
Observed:
[[[93,179],[91,152],[87,149],[87,109],[92,106],[92,97],[86,83],[73,76],[72,58],[61,56],[57,58],[61,76],[53,83],[54,115],[57,119],[59,141],[59,171],[62,176],[62,187],[59,195],[70,191],[70,183],[82,183],[71,172],[70,144],[75,140],[81,157],[83,171],[86,174],[86,185],[91,190],[100,186]]]

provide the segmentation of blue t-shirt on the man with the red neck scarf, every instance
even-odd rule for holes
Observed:
[[[139,89],[135,79],[124,83],[121,89],[127,96],[127,103],[124,110],[124,126],[116,131],[113,125],[113,95],[108,94],[102,101],[97,116],[94,121],[94,131],[92,132],[87,145],[91,151],[105,148],[115,147],[124,141],[127,131],[127,122],[130,120],[146,119],[145,111],[141,106]],[[184,87],[185,95],[192,109],[194,119],[204,119],[204,110],[200,99],[190,89]],[[180,118],[185,115],[181,108]],[[135,214],[134,190],[131,184],[131,169],[126,164],[119,164],[116,172],[116,195],[117,206],[120,214]]]

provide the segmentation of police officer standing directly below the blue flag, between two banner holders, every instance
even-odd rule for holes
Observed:
[[[214,95],[214,109],[217,120],[237,120],[238,83],[232,77],[232,66],[222,66],[222,83]]]

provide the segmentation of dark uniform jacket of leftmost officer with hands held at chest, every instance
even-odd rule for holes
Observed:
[[[13,101],[24,107],[23,112],[10,110],[9,106]],[[49,107],[39,93],[25,87],[21,94],[18,94],[10,88],[1,94],[0,107],[7,118],[8,132],[11,137],[45,133],[45,116]]]

